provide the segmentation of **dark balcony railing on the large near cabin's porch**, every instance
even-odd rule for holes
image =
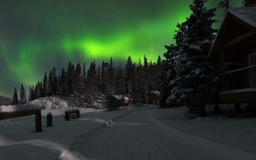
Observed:
[[[222,83],[222,91],[256,88],[256,65],[224,73]]]

